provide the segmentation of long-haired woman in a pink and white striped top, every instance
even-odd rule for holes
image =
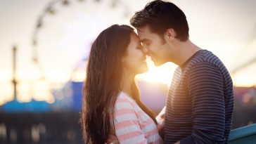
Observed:
[[[108,27],[92,44],[81,117],[85,143],[160,143],[155,114],[134,82],[148,70],[142,48],[127,25]]]

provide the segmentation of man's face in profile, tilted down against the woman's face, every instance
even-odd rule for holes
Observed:
[[[146,51],[155,65],[159,66],[168,62],[169,46],[164,37],[153,33],[150,27],[139,27],[137,29],[139,39],[143,44],[143,51]]]

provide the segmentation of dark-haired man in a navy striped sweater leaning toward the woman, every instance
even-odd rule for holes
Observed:
[[[188,39],[186,15],[167,1],[152,1],[131,19],[155,65],[177,64],[165,114],[165,143],[227,143],[233,84],[216,55]]]

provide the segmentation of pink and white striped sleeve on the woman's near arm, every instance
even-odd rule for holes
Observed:
[[[129,102],[129,100],[117,99],[113,120],[115,126],[115,134],[121,144],[148,143],[143,132],[141,131],[139,119],[136,116],[134,107],[132,106],[132,103]]]

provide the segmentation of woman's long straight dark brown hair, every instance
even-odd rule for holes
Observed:
[[[130,42],[133,28],[112,25],[98,35],[91,46],[87,78],[82,102],[82,135],[85,143],[106,143],[110,132],[110,114],[120,93],[122,56]],[[133,98],[141,109],[155,121],[155,114],[139,98],[135,82]]]

